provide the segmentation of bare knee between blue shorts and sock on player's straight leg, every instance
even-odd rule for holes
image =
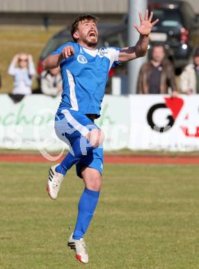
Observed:
[[[85,166],[81,170],[81,175],[87,189],[96,192],[101,190],[102,176],[98,170]]]

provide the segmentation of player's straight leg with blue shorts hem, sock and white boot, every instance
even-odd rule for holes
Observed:
[[[94,210],[98,203],[102,186],[102,170],[103,148],[95,148],[90,155],[83,158],[81,162],[76,165],[77,175],[83,178],[85,189],[78,203],[76,226],[74,233],[68,241],[68,246],[76,251],[76,258],[83,263],[87,263],[88,261],[83,235],[85,235],[87,228],[90,226]]]

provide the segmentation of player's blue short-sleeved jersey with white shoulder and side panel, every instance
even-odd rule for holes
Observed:
[[[100,115],[110,68],[118,64],[120,48],[89,50],[78,43],[68,42],[52,54],[73,46],[75,54],[61,62],[63,93],[58,112],[67,108],[84,114]]]

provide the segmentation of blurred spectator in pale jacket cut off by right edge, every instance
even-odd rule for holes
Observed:
[[[199,48],[193,55],[193,63],[186,66],[180,75],[180,90],[187,94],[199,93]]]

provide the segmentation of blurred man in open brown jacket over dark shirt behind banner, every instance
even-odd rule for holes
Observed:
[[[174,95],[177,93],[174,67],[165,59],[165,48],[156,45],[151,52],[151,61],[144,63],[140,69],[137,92],[167,94],[169,88]]]

